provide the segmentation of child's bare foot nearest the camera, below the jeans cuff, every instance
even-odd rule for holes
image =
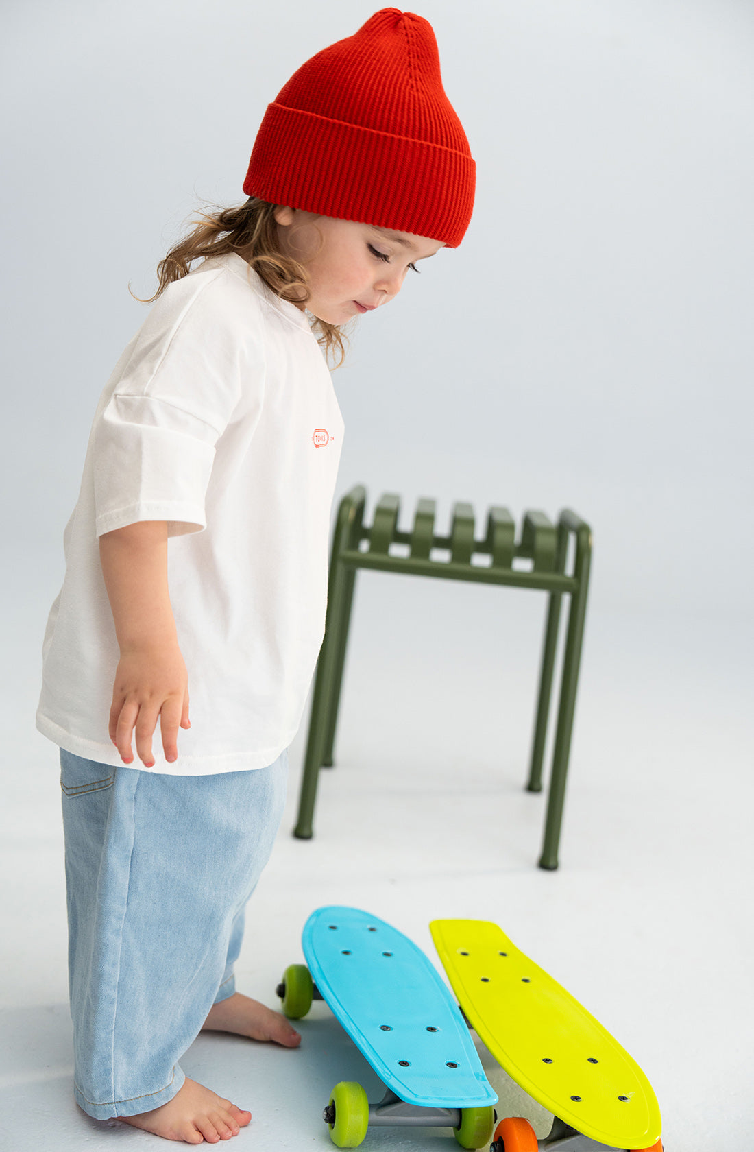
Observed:
[[[162,1107],[142,1112],[138,1116],[117,1119],[155,1136],[163,1136],[166,1140],[216,1144],[237,1136],[251,1120],[251,1113],[186,1077],[173,1099]]]

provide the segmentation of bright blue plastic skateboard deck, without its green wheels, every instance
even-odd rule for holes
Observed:
[[[312,979],[386,1087],[422,1107],[495,1104],[455,1000],[408,937],[358,908],[312,912]]]

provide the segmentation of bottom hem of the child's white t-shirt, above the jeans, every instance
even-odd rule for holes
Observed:
[[[168,764],[161,749],[153,748],[154,765],[147,768],[137,759],[132,764],[124,765],[120,753],[112,744],[74,735],[43,712],[37,713],[37,730],[51,740],[53,744],[58,744],[59,748],[74,756],[81,756],[84,760],[94,760],[97,764],[107,764],[112,767],[139,768],[142,772],[153,772],[157,775],[168,776],[208,776],[219,775],[222,772],[254,772],[259,768],[266,768],[285,751],[296,735],[296,732],[289,733],[284,740],[272,748],[244,749],[243,751],[222,752],[219,756],[182,756],[178,748],[178,758],[174,764]],[[180,738],[178,736],[178,741]]]

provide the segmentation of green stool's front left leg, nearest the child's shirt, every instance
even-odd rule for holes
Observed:
[[[317,801],[317,783],[319,780],[319,770],[325,759],[325,745],[328,734],[328,700],[333,695],[337,653],[341,643],[338,634],[342,629],[337,626],[342,620],[345,575],[344,566],[336,560],[333,564],[328,588],[328,619],[325,628],[325,639],[322,641],[322,647],[320,649],[317,662],[314,691],[312,694],[312,714],[309,721],[309,738],[304,757],[304,775],[298,797],[298,818],[294,828],[294,835],[299,840],[311,840],[313,835],[312,821],[314,818],[314,803]]]

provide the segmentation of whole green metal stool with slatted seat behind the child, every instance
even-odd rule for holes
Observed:
[[[556,869],[589,583],[592,533],[588,524],[568,509],[561,513],[557,525],[541,511],[527,511],[517,544],[516,525],[508,509],[490,508],[487,514],[487,535],[483,540],[475,540],[471,505],[456,503],[452,509],[450,536],[435,536],[435,502],[420,500],[412,531],[401,532],[397,528],[399,497],[391,494],[382,497],[374,511],[371,528],[364,523],[365,500],[366,491],[358,485],[343,497],[337,513],[330,554],[325,639],[314,679],[298,821],[294,834],[302,840],[311,839],[319,770],[322,765],[328,767],[333,765],[335,723],[343,681],[356,569],[372,568],[416,576],[440,576],[445,579],[477,581],[480,584],[510,584],[515,588],[533,588],[549,592],[527,785],[530,791],[542,790],[542,758],[555,669],[561,600],[564,593],[571,598],[544,842],[539,861],[540,867]],[[576,548],[572,570],[566,573],[571,537],[576,540]],[[364,540],[368,544],[363,551],[360,545]],[[393,544],[403,545],[403,553],[405,545],[409,545],[409,554],[391,555]],[[448,550],[450,560],[434,560],[433,548]],[[489,564],[472,564],[472,553],[488,555]],[[518,558],[531,562],[527,570],[521,570],[520,566],[513,568],[513,560]]]

